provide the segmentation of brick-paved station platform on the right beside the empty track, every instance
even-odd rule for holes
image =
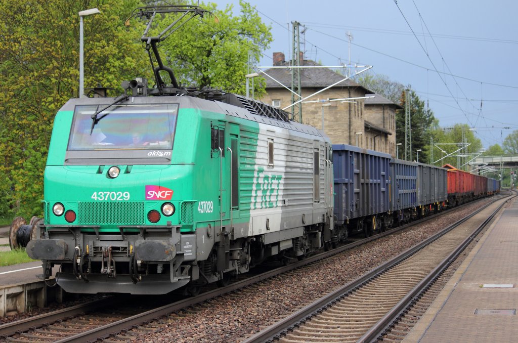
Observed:
[[[403,342],[514,342],[517,309],[518,202],[511,200]]]

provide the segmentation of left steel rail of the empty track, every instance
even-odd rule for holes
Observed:
[[[375,278],[377,275],[385,273],[385,271],[392,268],[394,265],[398,264],[402,260],[407,259],[410,255],[414,254],[415,252],[423,249],[425,246],[430,244],[432,241],[438,239],[439,237],[447,234],[451,230],[453,230],[458,225],[464,223],[471,217],[475,216],[478,212],[484,210],[486,207],[492,205],[493,203],[497,201],[501,201],[502,198],[494,199],[492,202],[484,205],[476,212],[471,213],[471,215],[458,220],[457,222],[453,223],[449,227],[445,228],[441,232],[428,237],[424,241],[422,241],[420,244],[409,248],[408,250],[402,252],[401,254],[395,256],[393,259],[387,261],[386,263],[375,267],[368,271],[368,273],[356,278],[355,280],[343,285],[339,289],[336,289],[335,291],[321,297],[320,299],[314,301],[313,303],[309,304],[308,306],[300,309],[297,312],[294,312],[292,315],[282,319],[281,321],[265,328],[261,332],[256,333],[255,335],[247,338],[246,340],[242,341],[241,343],[257,343],[257,342],[271,342],[274,340],[278,340],[281,338],[281,336],[285,336],[289,331],[295,330],[300,324],[304,324],[307,320],[310,320],[312,317],[315,317],[316,315],[319,315],[323,311],[325,311],[327,308],[334,306],[337,302],[339,302],[341,299],[347,297],[352,292],[358,290],[361,288],[364,284],[368,283],[369,280]],[[426,217],[429,218],[429,217]],[[419,221],[418,221],[419,222]],[[416,222],[412,222],[412,225]],[[393,232],[393,231],[392,231]],[[377,235],[379,237],[380,235]]]

